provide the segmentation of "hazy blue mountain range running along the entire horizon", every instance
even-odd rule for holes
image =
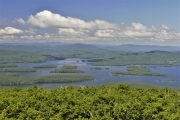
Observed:
[[[111,51],[123,51],[123,52],[149,52],[154,50],[160,51],[180,51],[180,46],[157,46],[157,45],[95,45],[95,44],[82,44],[82,43],[63,43],[63,42],[34,42],[34,43],[1,43],[0,48],[3,49],[19,49],[19,50],[96,50],[106,49]]]

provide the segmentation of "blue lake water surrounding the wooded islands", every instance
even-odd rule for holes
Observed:
[[[54,88],[63,85],[89,85],[89,86],[96,86],[101,84],[107,83],[118,83],[118,82],[140,82],[140,83],[148,83],[148,84],[155,84],[160,86],[180,86],[180,66],[173,66],[173,67],[161,67],[156,66],[156,68],[151,68],[153,72],[160,72],[166,73],[170,76],[131,76],[131,75],[124,75],[124,76],[112,76],[111,72],[113,71],[125,71],[126,66],[100,66],[102,68],[110,68],[110,69],[103,69],[103,70],[92,70],[90,68],[94,68],[97,66],[93,66],[88,62],[82,62],[82,59],[78,58],[69,58],[66,60],[52,60],[47,61],[45,63],[19,63],[18,67],[20,68],[32,68],[36,65],[56,65],[57,68],[42,68],[37,69],[41,72],[21,72],[18,73],[21,76],[46,76],[46,75],[55,75],[55,74],[64,74],[64,73],[49,73],[52,70],[59,69],[63,65],[76,65],[78,70],[83,70],[85,75],[93,76],[95,79],[92,81],[83,81],[83,82],[76,82],[76,83],[44,83],[44,84],[36,84],[37,86],[43,86],[45,88]],[[177,82],[164,82],[167,79],[175,79],[178,80]],[[25,87],[21,85],[20,87]]]

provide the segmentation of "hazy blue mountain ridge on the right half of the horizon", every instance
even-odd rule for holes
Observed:
[[[179,46],[156,46],[156,45],[133,45],[133,44],[124,44],[119,46],[106,46],[104,47],[108,50],[113,51],[125,51],[125,52],[148,52],[154,50],[160,51],[180,51]]]

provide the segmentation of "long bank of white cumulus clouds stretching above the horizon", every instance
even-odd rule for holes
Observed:
[[[153,43],[174,40],[180,43],[180,33],[172,31],[166,25],[160,27],[147,27],[141,23],[132,22],[129,25],[124,23],[118,25],[104,20],[84,21],[82,19],[65,17],[51,11],[44,10],[30,15],[27,20],[19,18],[16,20],[20,24],[30,25],[31,28],[24,30],[6,27],[0,29],[0,35],[16,35],[23,33],[21,39],[34,40],[61,40],[63,42],[77,41],[116,41],[117,43]],[[37,27],[36,29],[33,29]],[[51,33],[48,33],[51,32]],[[52,34],[53,33],[53,34]],[[7,36],[6,36],[7,37]]]

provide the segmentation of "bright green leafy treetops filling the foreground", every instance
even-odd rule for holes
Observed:
[[[126,84],[0,90],[2,120],[179,120],[180,94]]]

